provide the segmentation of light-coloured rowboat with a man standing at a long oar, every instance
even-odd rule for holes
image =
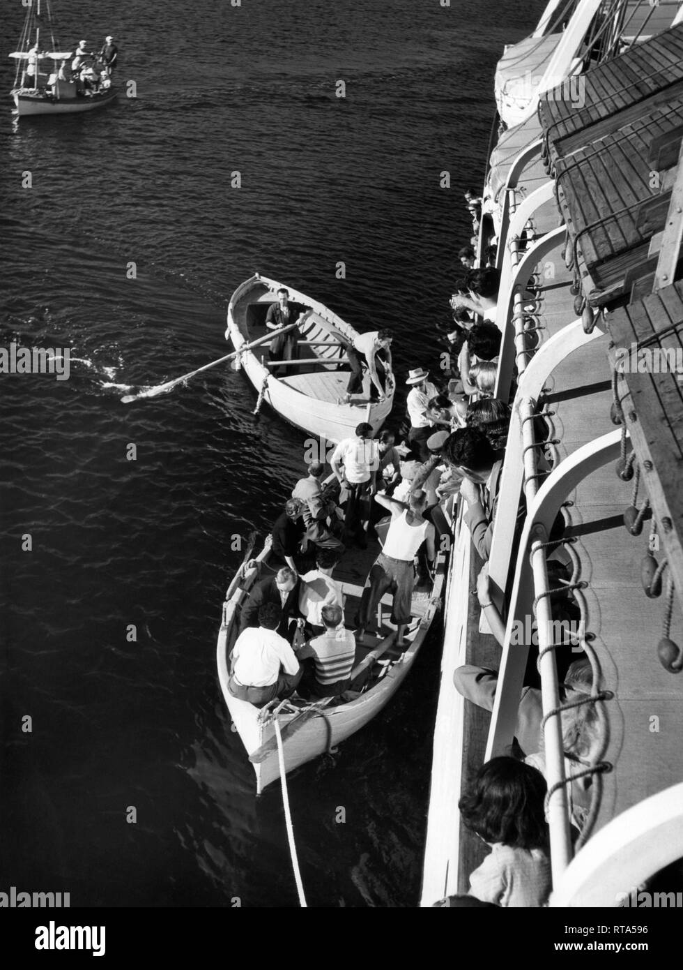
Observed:
[[[277,302],[276,291],[283,285],[257,273],[234,291],[228,307],[226,339],[233,341],[235,350],[268,333],[265,314]],[[299,327],[300,359],[290,366],[290,374],[276,377],[270,372],[267,345],[258,351],[245,350],[238,359],[259,392],[260,401],[270,404],[295,427],[335,444],[353,436],[361,421],[369,422],[374,432],[379,431],[391,410],[394,382],[389,382],[385,401],[371,403],[366,376],[361,396],[352,404],[337,404],[346,392],[349,370],[334,331],[348,339],[354,339],[357,331],[327,307],[291,286],[286,288],[295,307],[309,311]]]

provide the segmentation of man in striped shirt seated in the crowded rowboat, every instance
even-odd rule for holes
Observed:
[[[309,640],[298,651],[304,673],[298,694],[335,697],[349,689],[349,675],[356,658],[356,637],[344,628],[344,611],[337,604],[321,609],[325,632]]]

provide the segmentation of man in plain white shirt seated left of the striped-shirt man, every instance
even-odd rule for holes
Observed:
[[[276,631],[280,620],[280,607],[264,603],[259,610],[259,626],[247,627],[237,637],[228,681],[233,697],[263,707],[275,697],[294,693],[303,668],[290,644]]]

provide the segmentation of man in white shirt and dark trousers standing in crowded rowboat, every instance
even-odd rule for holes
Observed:
[[[344,542],[367,546],[361,502],[377,491],[377,472],[380,468],[380,448],[372,437],[372,425],[363,421],[357,426],[356,437],[345,437],[336,446],[329,460],[332,471],[342,486],[339,504],[344,508]],[[344,468],[342,472],[342,466]]]

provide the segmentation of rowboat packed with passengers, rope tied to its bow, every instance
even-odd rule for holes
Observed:
[[[362,587],[357,585],[357,580],[360,579],[360,582],[363,582],[378,552],[377,543],[369,543],[368,549],[363,552],[347,552],[334,574],[334,578],[342,583],[345,595],[344,616],[348,629],[354,629],[354,617],[362,594]],[[257,794],[261,794],[266,785],[280,777],[278,751],[274,741],[275,728],[272,720],[268,719],[267,708],[263,709],[264,714],[262,714],[259,708],[247,701],[238,700],[229,692],[229,658],[239,629],[240,603],[259,579],[261,566],[267,562],[269,555],[270,546],[266,540],[264,549],[256,560],[251,561],[252,567],[246,570],[244,578],[240,580],[235,576],[233,579],[223,604],[217,644],[218,679],[233,719],[233,730],[236,730],[242,739],[250,760],[254,759],[252,763],[256,772]],[[256,563],[255,566],[254,563]],[[325,754],[330,748],[355,734],[379,714],[396,693],[415,663],[419,648],[438,613],[445,574],[445,554],[439,553],[431,587],[424,592],[417,591],[413,594],[414,620],[405,635],[408,646],[403,652],[389,646],[382,651],[384,654],[382,663],[372,663],[373,658],[370,657],[371,673],[363,693],[353,692],[353,695],[356,695],[354,699],[346,699],[352,695],[352,692],[349,692],[344,695],[344,699],[335,698],[333,703],[328,702],[327,698],[318,704],[310,704],[299,699],[292,703],[286,702],[285,706],[281,707],[277,716],[282,732],[285,769],[288,774],[299,765],[318,758],[319,755]],[[361,663],[371,651],[377,650],[378,645],[393,629],[388,620],[390,597],[386,596],[382,599],[382,608],[382,624],[379,628],[381,637],[366,633],[362,644],[357,644],[357,664]],[[386,647],[386,642],[382,642],[382,646]],[[293,725],[295,719],[296,730]]]

